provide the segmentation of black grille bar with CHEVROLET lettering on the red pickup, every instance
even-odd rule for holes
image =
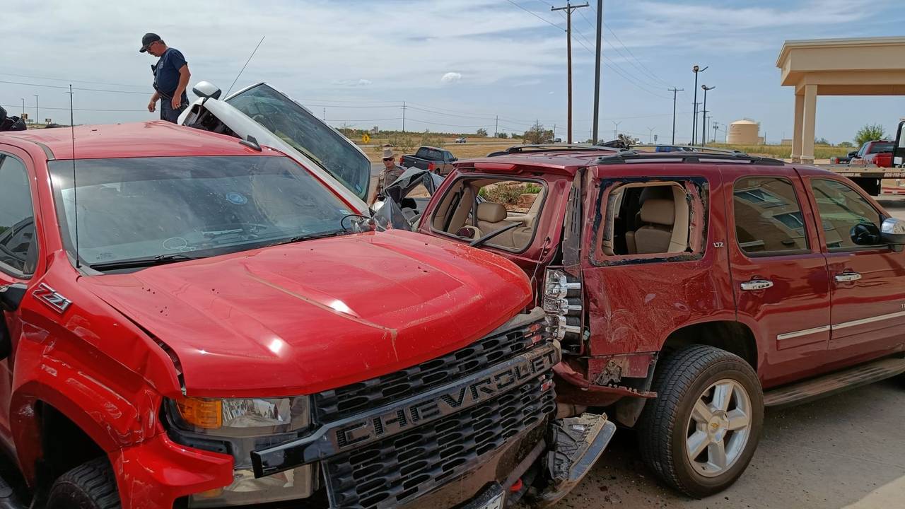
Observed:
[[[398,403],[376,408],[364,415],[320,427],[310,437],[252,452],[254,475],[262,477],[319,461],[390,437],[412,427],[470,408],[500,396],[530,379],[548,376],[560,360],[559,350],[538,345],[510,360],[500,362],[464,379],[424,392]]]

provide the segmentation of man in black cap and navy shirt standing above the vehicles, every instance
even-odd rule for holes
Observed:
[[[176,123],[179,113],[188,107],[186,87],[191,73],[188,72],[186,57],[176,48],[168,48],[157,34],[145,34],[141,38],[138,53],[148,53],[158,57],[156,65],[151,66],[154,72],[154,95],[148,102],[148,111],[157,110],[160,100],[160,120]]]

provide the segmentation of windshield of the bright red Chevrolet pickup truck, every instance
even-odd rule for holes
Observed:
[[[336,235],[351,213],[290,158],[177,157],[50,164],[57,216],[81,263],[223,255]],[[76,214],[76,203],[78,213]]]

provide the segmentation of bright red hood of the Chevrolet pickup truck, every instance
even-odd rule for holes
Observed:
[[[334,389],[457,350],[530,302],[500,256],[409,232],[351,235],[80,279],[175,351],[186,393]]]

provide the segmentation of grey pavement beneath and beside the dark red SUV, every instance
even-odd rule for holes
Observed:
[[[878,200],[905,219],[905,197]],[[767,409],[757,454],[738,483],[703,500],[657,484],[632,431],[616,432],[605,456],[562,509],[886,509],[905,507],[905,381],[887,380],[795,408]]]

